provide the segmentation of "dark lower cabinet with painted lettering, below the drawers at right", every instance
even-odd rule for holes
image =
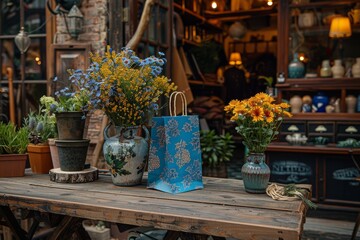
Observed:
[[[266,156],[271,170],[270,181],[311,184],[313,200],[325,207],[360,207],[356,164],[360,160],[359,148],[338,148],[333,144],[291,146],[276,142],[269,145]]]

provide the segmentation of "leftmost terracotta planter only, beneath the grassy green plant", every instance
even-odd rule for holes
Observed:
[[[23,177],[27,154],[0,154],[0,177]]]

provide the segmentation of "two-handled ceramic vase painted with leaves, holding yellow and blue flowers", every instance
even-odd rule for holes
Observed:
[[[138,185],[148,159],[149,131],[145,126],[116,127],[116,135],[109,137],[110,126],[104,129],[103,152],[112,181],[119,186]]]

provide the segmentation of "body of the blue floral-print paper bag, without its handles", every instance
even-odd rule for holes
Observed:
[[[174,194],[203,188],[197,115],[152,119],[148,187]]]

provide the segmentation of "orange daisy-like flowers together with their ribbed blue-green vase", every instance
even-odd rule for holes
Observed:
[[[241,169],[245,190],[264,193],[270,178],[270,169],[265,164],[264,152],[278,135],[284,117],[291,117],[287,103],[276,104],[266,93],[242,101],[232,100],[225,106],[225,112],[237,123],[236,131],[249,150],[247,162]]]

